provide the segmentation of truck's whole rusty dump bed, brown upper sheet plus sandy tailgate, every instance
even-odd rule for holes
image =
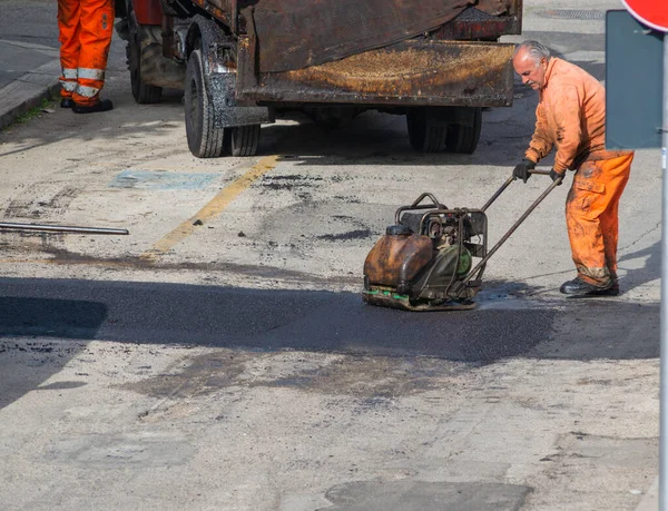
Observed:
[[[512,105],[522,0],[193,0],[236,40],[240,104]],[[473,42],[477,40],[477,42]]]

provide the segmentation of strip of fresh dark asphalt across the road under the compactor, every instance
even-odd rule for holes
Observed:
[[[365,305],[357,293],[29,278],[0,286],[0,343],[35,335],[480,364],[658,356],[658,304],[619,299],[409,313]]]

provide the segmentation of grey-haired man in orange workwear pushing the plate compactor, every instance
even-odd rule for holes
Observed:
[[[616,296],[619,198],[633,153],[606,150],[606,90],[587,71],[550,58],[537,41],[522,42],[512,63],[522,82],[539,91],[536,130],[514,177],[527,183],[553,147],[552,180],[576,170],[566,223],[578,276],[559,291],[570,297]]]

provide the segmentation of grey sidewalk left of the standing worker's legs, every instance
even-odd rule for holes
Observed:
[[[20,115],[58,97],[58,49],[0,39],[0,129]]]

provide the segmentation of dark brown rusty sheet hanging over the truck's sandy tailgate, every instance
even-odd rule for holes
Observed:
[[[473,3],[475,0],[257,0],[240,12],[257,39],[259,70],[284,72],[420,36]]]

